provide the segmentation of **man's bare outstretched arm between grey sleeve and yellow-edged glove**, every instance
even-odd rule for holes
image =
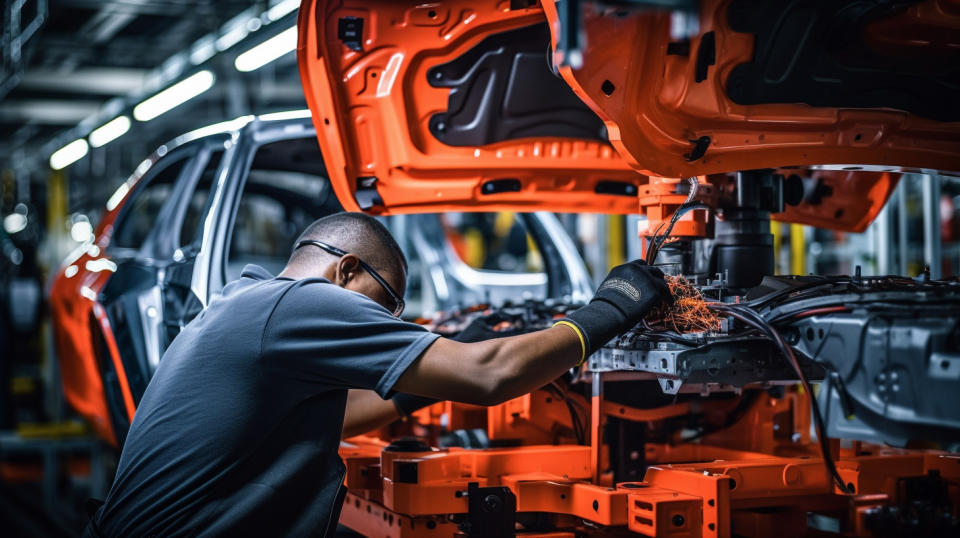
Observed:
[[[577,364],[583,353],[575,330],[564,326],[471,344],[439,338],[394,388],[495,405],[546,385]]]

